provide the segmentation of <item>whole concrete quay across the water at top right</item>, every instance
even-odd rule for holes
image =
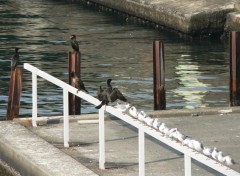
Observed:
[[[91,0],[90,2],[154,22],[190,36],[239,30],[237,0]],[[230,13],[235,12],[234,14]],[[228,17],[227,17],[228,16]]]

